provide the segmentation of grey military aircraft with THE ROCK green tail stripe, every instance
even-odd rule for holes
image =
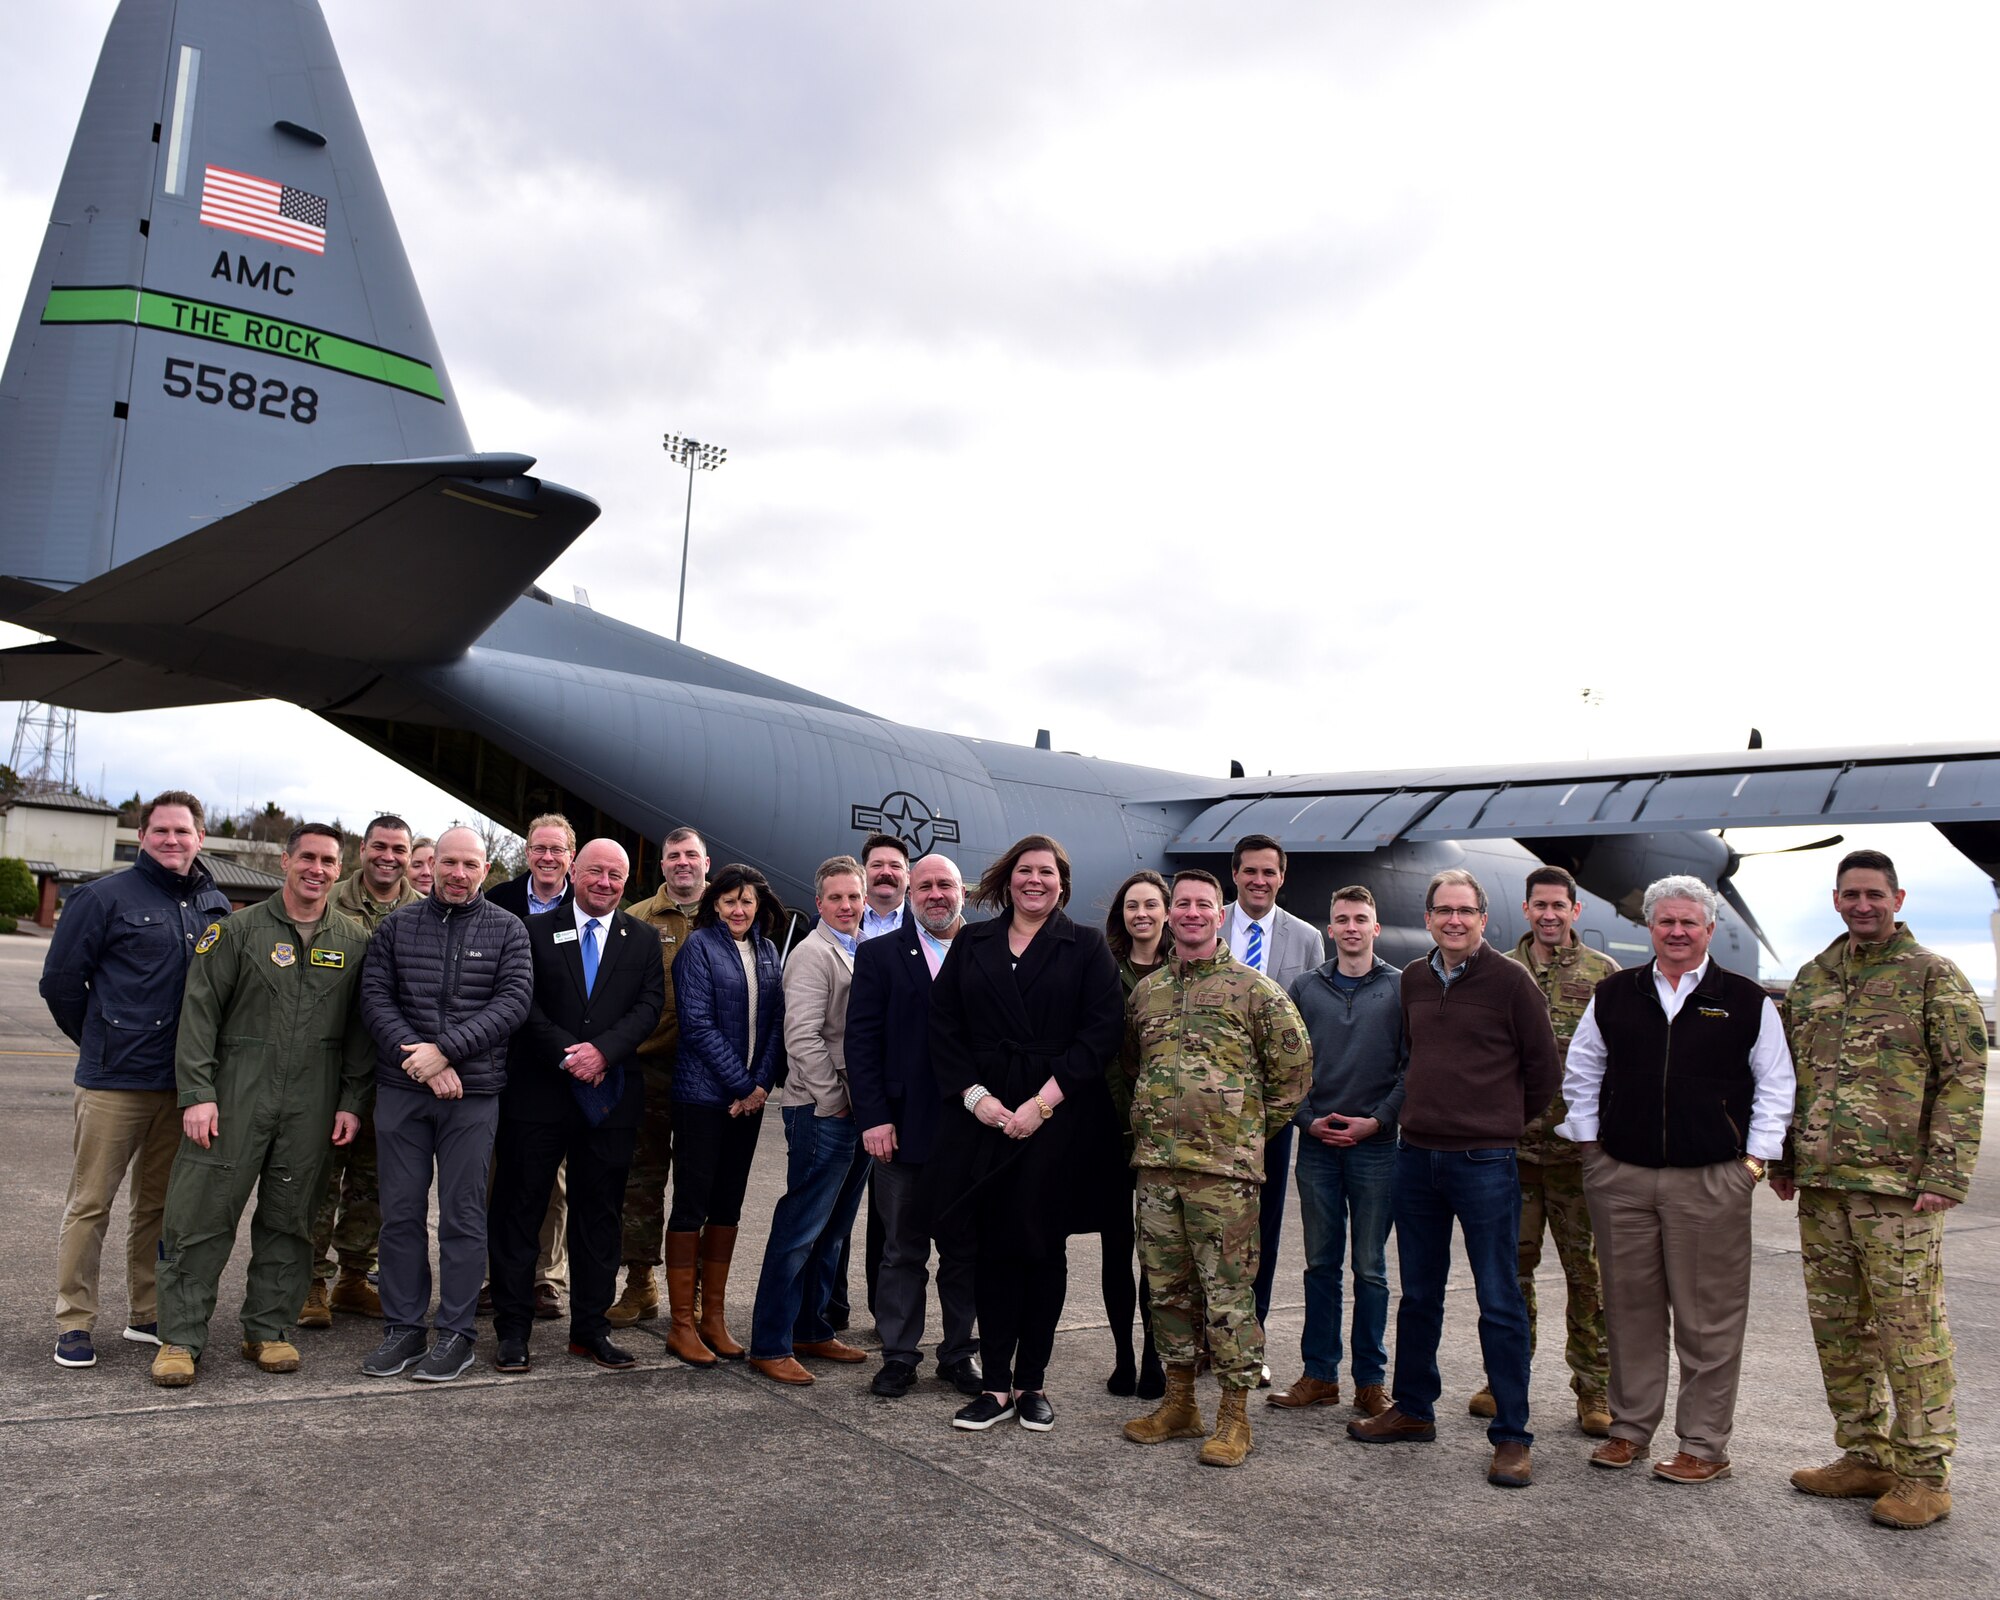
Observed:
[[[1496,944],[1524,874],[1570,868],[1582,936],[1626,962],[1642,888],[1694,872],[1746,972],[1710,830],[1932,822],[2000,872],[1986,746],[1224,780],[908,728],[546,594],[598,508],[532,466],[472,452],[318,6],[124,0],[0,376],[0,616],[48,636],[0,652],[0,698],[276,696],[516,830],[562,810],[650,864],[694,824],[790,904],[876,828],[968,876],[1054,834],[1084,918],[1262,832],[1308,922],[1368,884],[1390,960],[1428,946],[1442,866],[1486,884]],[[384,564],[420,598],[354,604]],[[336,622],[302,642],[300,616]]]

